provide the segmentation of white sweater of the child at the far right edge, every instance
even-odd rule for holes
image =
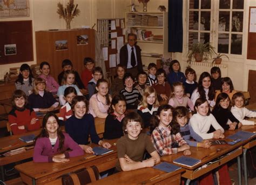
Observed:
[[[238,108],[237,106],[231,107],[231,112],[234,117],[242,123],[242,125],[254,125],[254,121],[245,120],[245,117],[255,118],[256,112],[250,111],[245,107]]]

